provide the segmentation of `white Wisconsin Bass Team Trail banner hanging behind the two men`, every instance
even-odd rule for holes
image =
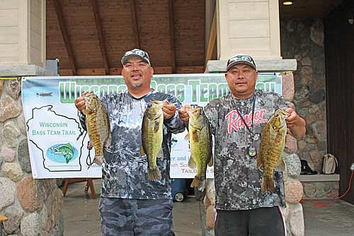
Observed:
[[[281,94],[279,73],[260,73],[257,88]],[[224,73],[156,75],[152,88],[175,95],[183,105],[205,107],[207,102],[229,93]],[[82,129],[74,100],[85,91],[103,96],[126,90],[122,76],[23,77],[23,112],[28,136],[33,178],[101,177],[101,167],[92,165],[94,149]],[[182,134],[173,135],[171,177],[193,178],[188,167],[189,146]],[[207,177],[213,177],[213,167]]]

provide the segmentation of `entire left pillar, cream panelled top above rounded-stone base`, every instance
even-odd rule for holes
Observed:
[[[33,179],[21,77],[45,73],[45,0],[0,1],[0,214],[5,235],[64,235],[62,191]]]

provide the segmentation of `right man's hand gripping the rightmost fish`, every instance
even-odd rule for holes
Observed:
[[[295,138],[302,138],[306,132],[306,122],[292,108],[287,108],[285,112],[289,113],[289,117],[285,119],[287,128],[290,130],[290,134]]]

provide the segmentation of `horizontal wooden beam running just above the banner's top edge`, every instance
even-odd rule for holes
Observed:
[[[122,71],[121,67],[111,67],[109,69],[110,75],[120,76]],[[204,66],[176,66],[176,73],[204,73]],[[154,73],[172,73],[172,66],[154,66]],[[60,76],[73,76],[72,69],[60,69]],[[77,74],[79,76],[105,76],[104,68],[84,68],[78,69]]]

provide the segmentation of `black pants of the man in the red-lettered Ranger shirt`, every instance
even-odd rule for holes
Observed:
[[[278,206],[246,211],[217,210],[215,236],[284,236],[285,224]]]

